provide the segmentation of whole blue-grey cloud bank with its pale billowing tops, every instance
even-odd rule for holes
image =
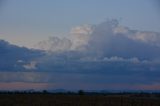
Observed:
[[[1,73],[0,81],[84,88],[132,84],[154,89],[149,85],[160,82],[159,36],[158,32],[132,30],[108,20],[75,27],[65,38],[50,37],[38,44],[41,50],[1,40],[0,70],[8,73]]]

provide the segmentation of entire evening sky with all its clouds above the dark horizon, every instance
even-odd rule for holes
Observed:
[[[158,0],[1,0],[0,90],[160,90]]]

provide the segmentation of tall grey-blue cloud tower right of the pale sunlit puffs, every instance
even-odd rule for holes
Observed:
[[[129,33],[115,33],[117,27],[119,27],[117,20],[107,21],[95,26],[89,40],[89,45],[87,46],[89,52],[99,57],[118,56],[125,58],[137,57],[139,59],[159,58],[159,47],[150,43],[144,43],[139,39],[131,39],[133,38],[132,36],[135,36],[132,33],[138,33],[139,31],[125,29],[126,31],[121,31],[129,31]]]

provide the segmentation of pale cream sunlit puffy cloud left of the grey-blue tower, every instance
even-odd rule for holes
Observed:
[[[48,52],[64,52],[71,50],[83,50],[83,46],[88,44],[92,26],[83,25],[71,29],[67,38],[49,37],[48,40],[41,41],[37,44],[37,48]]]

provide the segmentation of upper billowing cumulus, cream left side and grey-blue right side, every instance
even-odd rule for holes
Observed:
[[[40,47],[51,52],[79,51],[101,58],[117,56],[151,60],[160,58],[159,42],[160,33],[131,30],[119,25],[117,20],[108,20],[98,25],[72,28],[68,37],[51,37],[40,42]]]

